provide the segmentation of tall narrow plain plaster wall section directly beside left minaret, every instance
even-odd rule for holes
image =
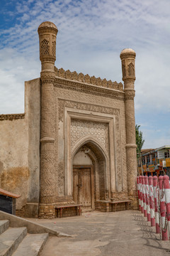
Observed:
[[[26,122],[28,122],[28,203],[40,196],[40,78],[25,82]]]

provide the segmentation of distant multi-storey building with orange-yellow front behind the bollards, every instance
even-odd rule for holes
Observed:
[[[138,163],[139,174],[154,176],[164,175],[170,176],[170,146],[165,145],[157,149],[142,149],[142,166]]]

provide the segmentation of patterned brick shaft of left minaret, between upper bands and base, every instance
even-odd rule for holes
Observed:
[[[41,139],[55,138],[54,90],[50,80],[42,80],[41,98]],[[41,143],[40,201],[55,202],[55,145],[53,142]]]

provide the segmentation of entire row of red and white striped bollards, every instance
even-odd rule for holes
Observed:
[[[137,177],[139,208],[156,233],[162,232],[162,240],[170,239],[170,185],[169,176]],[[161,216],[161,217],[160,217]],[[160,220],[159,220],[160,219]],[[160,223],[159,223],[160,221]],[[168,230],[169,228],[169,235]]]

